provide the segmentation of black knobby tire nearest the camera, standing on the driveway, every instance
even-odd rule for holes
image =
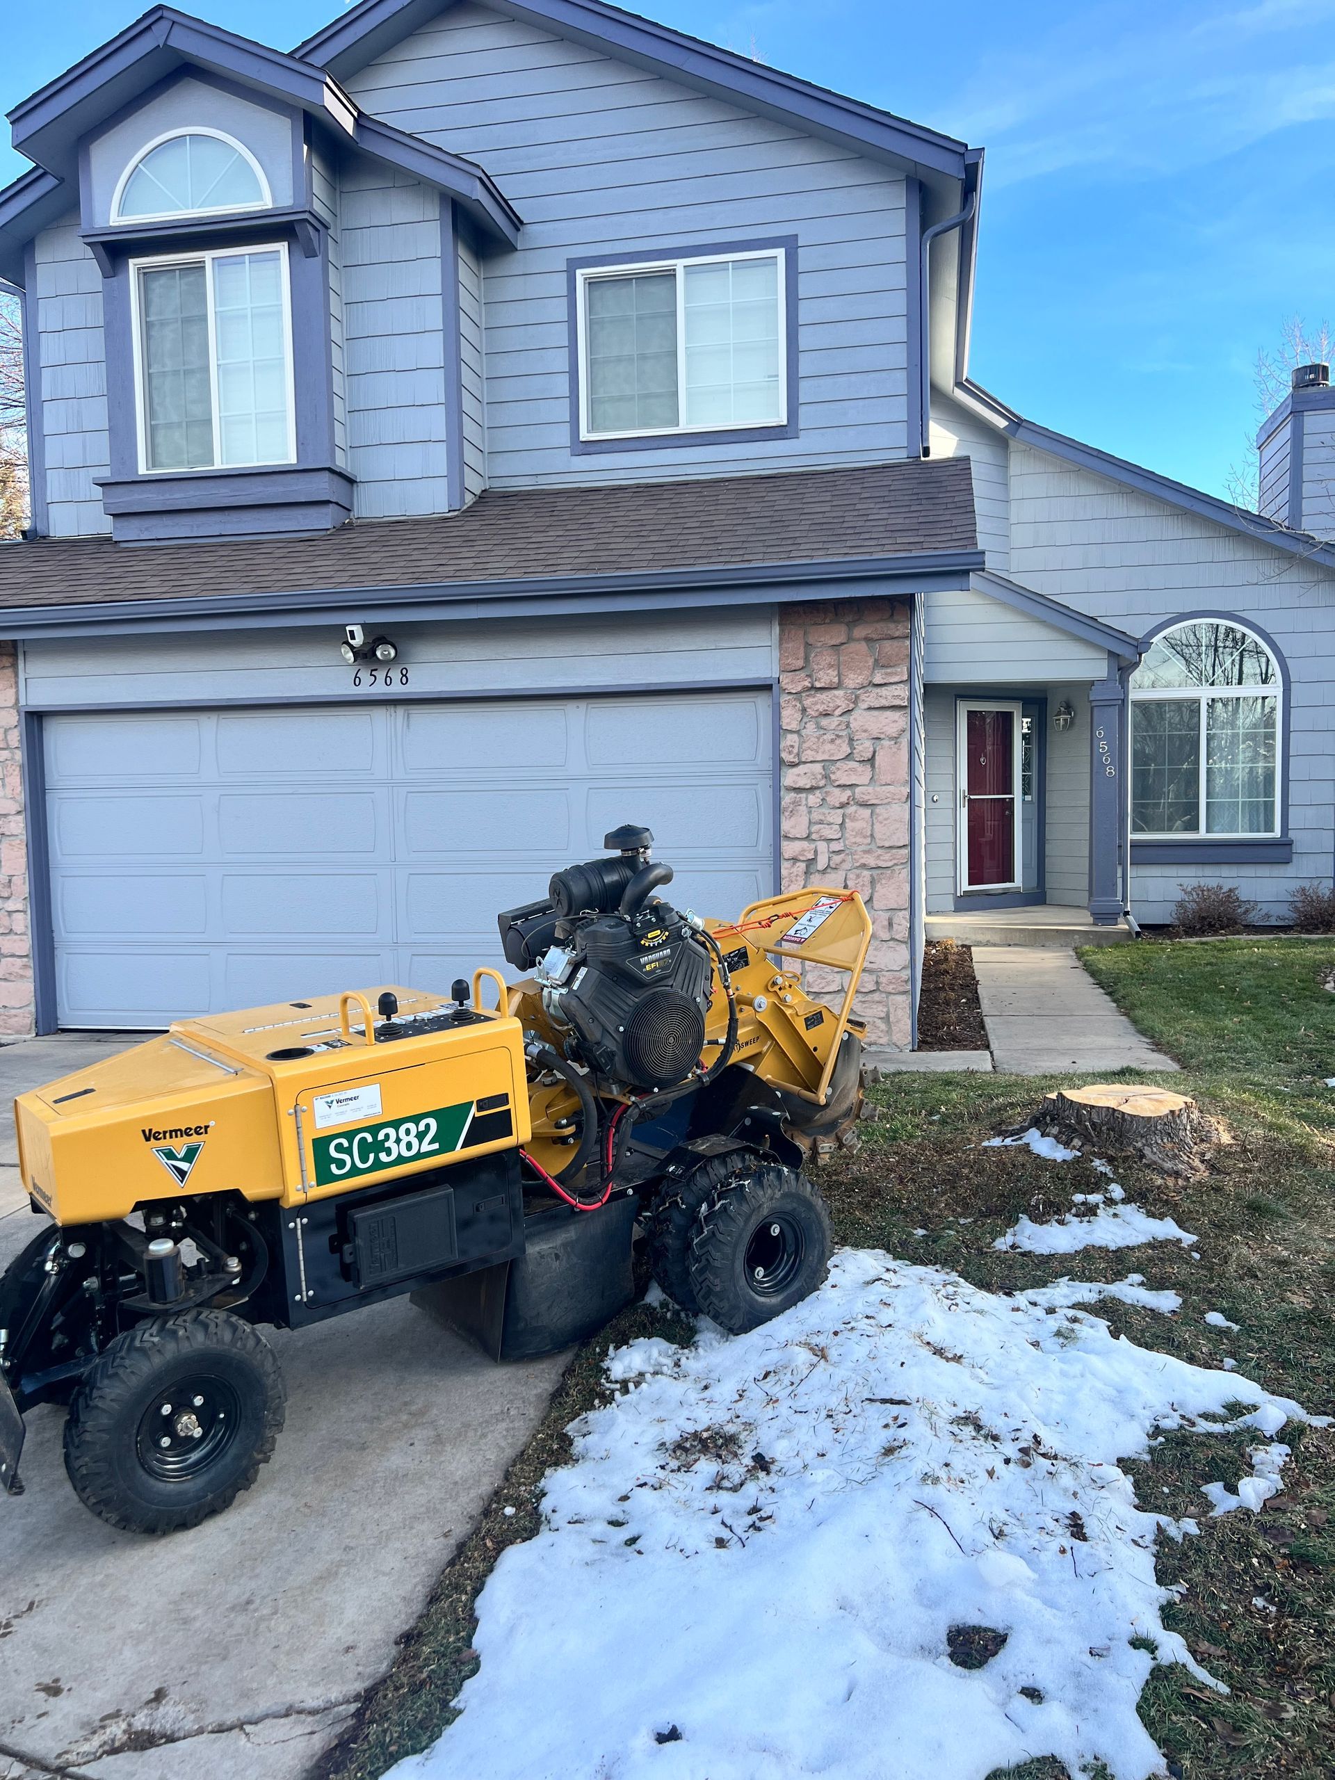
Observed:
[[[137,1451],[153,1397],[201,1367],[240,1403],[240,1426],[205,1470],[153,1477]],[[226,1310],[187,1310],[117,1335],[85,1372],[64,1429],[64,1468],[80,1502],[125,1533],[174,1533],[221,1513],[255,1483],[283,1428],[287,1390],[269,1342]]]

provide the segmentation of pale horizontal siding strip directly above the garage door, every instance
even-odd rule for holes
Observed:
[[[523,623],[393,623],[402,696],[623,692],[639,687],[737,685],[776,673],[767,607],[673,616],[530,618]],[[194,635],[84,637],[20,650],[21,703],[132,707],[253,701],[379,701],[338,660],[328,625],[217,632],[201,655]]]

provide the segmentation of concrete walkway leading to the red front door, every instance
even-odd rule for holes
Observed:
[[[997,1070],[1177,1070],[1064,947],[975,945],[974,972]]]

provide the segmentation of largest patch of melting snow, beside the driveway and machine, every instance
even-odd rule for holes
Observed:
[[[1194,1522],[1137,1508],[1118,1460],[1237,1426],[1198,1422],[1225,1404],[1266,1438],[1301,1410],[1112,1340],[1072,1290],[846,1250],[751,1335],[612,1353],[627,1394],[575,1424],[543,1531],[481,1595],[463,1714],[397,1780],[1161,1773],[1152,1646],[1209,1677],[1162,1625],[1153,1541]],[[959,1627],[1002,1648],[958,1668]]]

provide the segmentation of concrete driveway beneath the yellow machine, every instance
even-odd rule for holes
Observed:
[[[0,1048],[0,1267],[41,1228],[9,1098],[121,1048]],[[7,1148],[5,1148],[7,1145]],[[564,1356],[497,1367],[408,1299],[265,1331],[287,1428],[258,1483],[190,1533],[116,1533],[34,1410],[0,1497],[0,1780],[299,1780],[390,1666],[541,1419]]]

